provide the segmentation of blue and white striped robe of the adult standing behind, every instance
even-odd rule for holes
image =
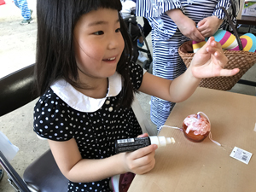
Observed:
[[[239,8],[239,1],[236,1]],[[166,15],[166,11],[180,9],[183,14],[198,23],[206,17],[215,15],[224,19],[224,11],[230,9],[229,0],[137,0],[137,16],[148,19],[152,26],[151,38],[153,45],[153,74],[164,79],[175,79],[186,67],[178,55],[178,47],[189,38],[177,28],[175,22]],[[237,12],[239,9],[236,9]],[[236,18],[233,16],[233,20]],[[222,28],[224,24],[220,26]],[[181,88],[182,89],[182,88]],[[150,118],[159,128],[164,125],[175,103],[164,101],[152,96]]]

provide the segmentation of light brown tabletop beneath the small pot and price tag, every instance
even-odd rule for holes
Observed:
[[[137,175],[129,192],[254,192],[256,191],[256,97],[197,88],[177,103],[166,125],[181,127],[191,113],[204,112],[212,124],[212,138],[192,143],[183,132],[164,127],[161,136],[175,144],[158,148],[154,169]],[[253,153],[248,165],[230,157],[234,147]]]

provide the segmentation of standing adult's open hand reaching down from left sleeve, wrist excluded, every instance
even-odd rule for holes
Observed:
[[[179,31],[183,33],[183,35],[187,38],[197,42],[203,41],[205,39],[201,32],[196,28],[195,21],[189,19],[189,17],[186,15],[183,15],[183,17],[181,17],[175,23]]]

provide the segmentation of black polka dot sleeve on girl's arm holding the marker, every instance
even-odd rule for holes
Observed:
[[[73,138],[73,118],[65,102],[49,89],[34,108],[34,131],[40,137],[55,141]]]

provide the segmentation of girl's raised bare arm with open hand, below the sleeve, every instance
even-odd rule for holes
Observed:
[[[232,76],[239,72],[238,68],[223,69],[227,61],[221,44],[209,38],[197,51],[187,71],[177,79],[171,81],[145,73],[139,90],[170,102],[183,102],[194,93],[202,78]]]

